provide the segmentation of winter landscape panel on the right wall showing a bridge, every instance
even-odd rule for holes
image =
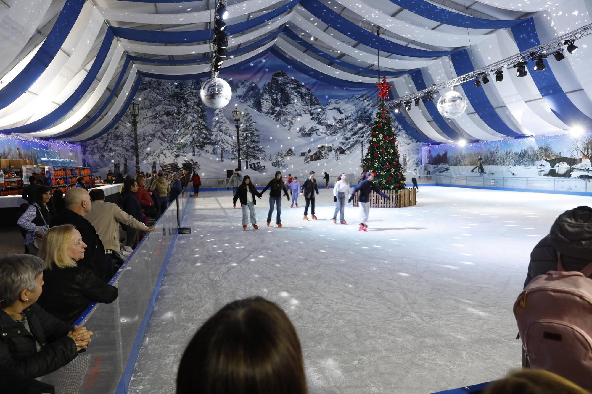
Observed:
[[[592,178],[592,134],[424,147],[432,175]]]

